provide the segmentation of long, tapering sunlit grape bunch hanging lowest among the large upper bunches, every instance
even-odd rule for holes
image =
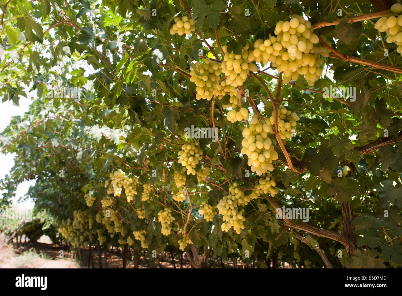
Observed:
[[[274,150],[268,133],[271,132],[271,126],[263,120],[258,120],[254,115],[251,118],[251,124],[243,129],[242,154],[248,156],[248,165],[251,170],[261,176],[267,170],[273,171],[272,161],[278,159],[278,153]]]

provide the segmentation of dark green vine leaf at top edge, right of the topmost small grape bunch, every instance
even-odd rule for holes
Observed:
[[[216,30],[220,17],[219,11],[225,8],[226,5],[222,0],[215,0],[211,4],[203,0],[195,0],[193,2],[193,17],[197,18],[197,22],[195,23],[197,31],[202,31],[201,27],[205,20],[209,27]]]

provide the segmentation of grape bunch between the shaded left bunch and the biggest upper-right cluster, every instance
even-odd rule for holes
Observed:
[[[226,83],[232,85],[233,87],[243,85],[244,81],[246,81],[249,71],[258,71],[257,66],[253,63],[249,63],[248,61],[249,47],[250,46],[247,44],[242,49],[242,54],[234,54],[233,52],[229,53],[227,52],[227,46],[222,47],[222,50],[225,53],[224,60],[221,65],[222,72],[224,72],[224,74],[227,76]]]

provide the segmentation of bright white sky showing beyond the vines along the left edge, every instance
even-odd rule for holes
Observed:
[[[27,99],[24,97],[20,97],[19,100],[20,106],[14,106],[11,101],[6,101],[4,103],[0,103],[0,132],[4,130],[10,124],[10,120],[12,116],[21,115],[23,116],[25,112],[29,110],[29,104],[31,103],[31,99]],[[0,153],[0,179],[3,179],[6,174],[8,174],[14,166],[14,156],[15,154],[3,154]],[[28,192],[29,186],[35,184],[35,181],[26,181],[18,185],[16,190],[16,197],[12,199],[13,205],[18,206],[20,208],[32,209],[34,203],[32,199],[27,201],[23,201],[21,203],[16,203],[16,201],[22,197],[25,193]],[[0,192],[3,193],[3,192]]]

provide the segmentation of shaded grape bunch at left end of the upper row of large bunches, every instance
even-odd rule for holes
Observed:
[[[197,75],[196,71],[199,73]],[[197,94],[195,98],[207,99],[210,101],[216,91],[217,85],[219,83],[219,75],[221,74],[221,66],[215,61],[206,58],[205,63],[195,63],[195,69],[193,66],[190,67],[190,81],[194,82],[197,87],[195,90]]]

